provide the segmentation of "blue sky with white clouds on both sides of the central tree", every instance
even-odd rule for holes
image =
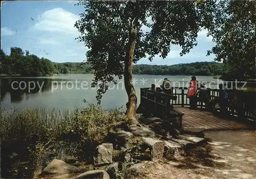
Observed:
[[[74,23],[83,7],[75,1],[4,1],[1,8],[1,48],[9,54],[10,47],[29,50],[30,54],[53,62],[82,62],[87,47],[75,40],[79,32]],[[32,20],[32,18],[33,20]],[[152,62],[141,59],[138,64],[172,65],[178,63],[213,61],[206,57],[215,44],[206,37],[206,30],[198,34],[198,45],[180,57],[181,48],[173,45],[165,59],[155,57]]]

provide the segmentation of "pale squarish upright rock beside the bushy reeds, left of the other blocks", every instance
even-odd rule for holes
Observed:
[[[104,165],[112,163],[113,144],[102,143],[96,147],[94,152],[94,165]]]

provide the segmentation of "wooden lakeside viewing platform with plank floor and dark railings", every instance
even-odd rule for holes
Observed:
[[[151,111],[153,116],[172,121],[175,119],[180,129],[255,129],[255,92],[228,90],[228,116],[223,117],[219,110],[209,112],[205,109],[205,105],[199,102],[197,110],[190,110],[189,99],[186,97],[187,90],[188,88],[173,88],[172,96],[141,88],[140,106],[144,111]],[[210,100],[219,97],[220,90],[208,89],[207,91]],[[234,99],[236,99],[235,102]],[[168,105],[169,101],[174,106],[173,109]]]

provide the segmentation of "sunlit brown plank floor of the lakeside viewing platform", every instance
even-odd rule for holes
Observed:
[[[222,119],[211,112],[202,110],[190,110],[184,107],[175,107],[175,110],[183,113],[183,128],[197,129],[249,129],[250,126],[238,121]]]

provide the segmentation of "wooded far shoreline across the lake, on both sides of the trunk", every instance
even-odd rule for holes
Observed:
[[[44,76],[51,74],[92,73],[90,65],[83,63],[55,63],[46,58],[30,55],[27,50],[11,47],[10,55],[1,50],[1,73],[22,76]],[[223,74],[223,64],[217,62],[195,62],[177,65],[134,65],[134,74]]]

